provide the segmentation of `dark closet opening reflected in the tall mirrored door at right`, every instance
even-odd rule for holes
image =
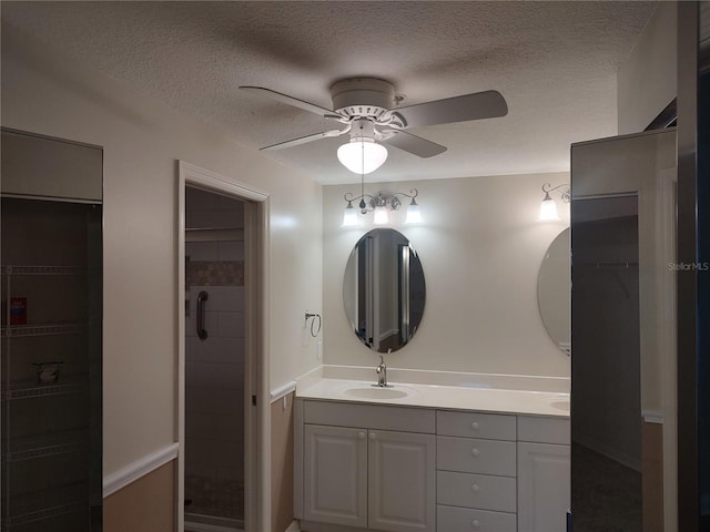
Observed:
[[[638,198],[574,207],[574,530],[641,532]]]

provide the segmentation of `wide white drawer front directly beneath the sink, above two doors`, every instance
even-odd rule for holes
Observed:
[[[355,405],[337,401],[304,401],[304,422],[333,427],[365,427],[368,429],[433,434],[434,410],[426,408]]]

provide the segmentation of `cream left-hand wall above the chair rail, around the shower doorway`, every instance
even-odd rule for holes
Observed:
[[[270,194],[271,387],[316,366],[320,185],[4,23],[1,89],[3,126],[104,147],[104,475],[175,440],[176,160]]]

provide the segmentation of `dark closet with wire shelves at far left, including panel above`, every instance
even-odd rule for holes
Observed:
[[[1,529],[100,531],[102,152],[3,130],[2,177]]]

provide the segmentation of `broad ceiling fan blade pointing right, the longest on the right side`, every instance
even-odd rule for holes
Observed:
[[[394,109],[393,114],[404,119],[405,127],[418,127],[505,116],[508,105],[498,91],[484,91]]]

